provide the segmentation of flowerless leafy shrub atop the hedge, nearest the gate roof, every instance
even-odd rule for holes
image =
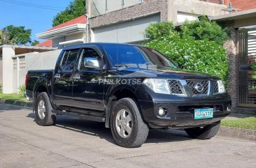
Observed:
[[[209,40],[219,45],[223,45],[229,38],[227,28],[222,28],[217,22],[209,22],[206,17],[194,22],[185,22],[181,29],[181,36],[191,37],[195,40]]]

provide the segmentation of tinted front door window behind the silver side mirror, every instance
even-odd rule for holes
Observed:
[[[95,58],[99,61],[99,68],[102,68],[103,65],[103,59],[101,58],[101,56],[99,56],[99,54],[94,50],[94,49],[83,49],[83,55],[80,61],[80,70],[86,70],[88,69],[87,67],[85,67],[85,58]]]

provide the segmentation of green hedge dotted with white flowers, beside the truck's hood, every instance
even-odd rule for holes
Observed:
[[[221,45],[207,40],[194,40],[178,36],[151,40],[146,45],[169,56],[170,59],[178,63],[180,68],[204,72],[227,81],[227,54]]]

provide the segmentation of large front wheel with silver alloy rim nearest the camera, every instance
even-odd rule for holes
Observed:
[[[148,137],[148,125],[144,123],[136,101],[122,98],[115,102],[112,110],[111,132],[115,142],[125,148],[141,146]],[[125,117],[122,119],[122,116]]]

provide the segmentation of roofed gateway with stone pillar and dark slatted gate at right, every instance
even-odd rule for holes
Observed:
[[[232,107],[236,112],[256,114],[256,80],[250,68],[256,60],[256,8],[218,15],[211,20],[228,25],[231,33],[224,47],[229,59],[227,90]]]

